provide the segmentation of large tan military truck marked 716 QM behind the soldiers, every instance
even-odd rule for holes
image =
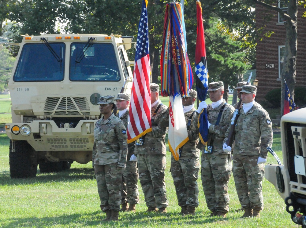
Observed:
[[[5,125],[11,177],[34,177],[38,165],[54,172],[88,163],[99,97],[131,92],[132,37],[26,34],[19,45],[9,79],[12,123]]]

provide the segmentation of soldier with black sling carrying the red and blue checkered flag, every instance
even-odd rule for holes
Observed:
[[[207,106],[207,145],[209,147],[208,150],[205,150],[203,144],[199,143],[202,150],[201,179],[207,207],[211,210],[210,216],[224,218],[229,211],[228,182],[232,172],[232,160],[230,152],[224,152],[222,145],[235,109],[222,98],[224,93],[222,81],[209,83],[208,87],[207,91],[212,101],[212,104]],[[197,115],[201,112],[200,105],[199,109]],[[218,124],[219,114],[221,118]],[[212,149],[210,150],[210,148]]]

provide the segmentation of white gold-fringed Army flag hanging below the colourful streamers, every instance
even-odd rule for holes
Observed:
[[[179,159],[179,149],[189,140],[181,95],[169,96],[168,143],[175,161]]]

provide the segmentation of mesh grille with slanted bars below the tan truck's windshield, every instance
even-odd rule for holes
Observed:
[[[43,110],[45,115],[80,116],[84,113],[90,114],[90,112],[82,112],[90,111],[86,97],[47,97]]]

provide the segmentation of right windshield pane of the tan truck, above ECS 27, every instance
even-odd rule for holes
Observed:
[[[120,81],[114,46],[109,43],[89,43],[88,47],[85,45],[85,43],[71,44],[69,79]]]

